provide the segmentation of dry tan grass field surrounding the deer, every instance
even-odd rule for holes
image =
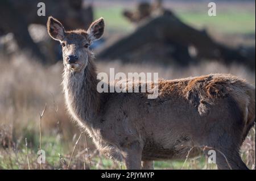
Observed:
[[[28,169],[28,165],[30,169],[40,169],[36,153],[41,147],[47,154],[42,169],[122,169],[123,165],[100,155],[90,140],[86,145],[85,137],[79,136],[80,131],[71,123],[60,85],[61,62],[43,67],[27,59],[25,56],[10,60],[0,58],[0,169]],[[255,84],[255,72],[242,66],[227,67],[217,62],[187,68],[122,65],[118,61],[98,62],[97,66],[98,71],[106,73],[109,73],[109,68],[115,68],[115,73],[158,72],[159,77],[166,79],[232,73]],[[45,104],[47,109],[41,117],[42,140],[39,141],[39,114]],[[247,166],[255,169],[255,127],[247,136],[241,154]],[[155,165],[157,169],[216,169],[205,164],[204,157],[188,159],[184,166],[183,162],[156,162]]]

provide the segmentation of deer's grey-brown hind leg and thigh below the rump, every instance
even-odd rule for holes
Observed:
[[[245,127],[244,114],[237,102],[227,96],[216,102],[207,116],[199,145],[213,148],[218,169],[247,169],[239,154]]]

